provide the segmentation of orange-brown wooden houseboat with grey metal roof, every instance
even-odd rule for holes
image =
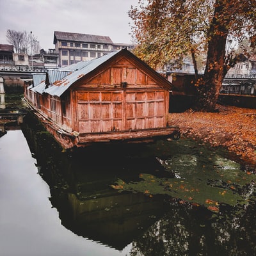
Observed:
[[[179,139],[168,126],[172,84],[127,49],[33,74],[24,99],[63,148]]]

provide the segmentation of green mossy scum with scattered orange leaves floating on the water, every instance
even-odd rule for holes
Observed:
[[[170,178],[141,173],[139,181],[117,180],[113,188],[119,191],[145,193],[148,196],[167,195],[178,198],[180,204],[204,205],[218,212],[221,204],[242,205],[248,202],[248,191],[254,188],[255,175],[241,170],[239,163],[225,158],[223,151],[195,147],[195,142],[162,142],[157,157]],[[157,145],[156,145],[157,147]],[[169,151],[166,151],[166,147]]]

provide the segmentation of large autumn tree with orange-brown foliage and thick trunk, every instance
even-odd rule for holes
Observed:
[[[196,107],[213,111],[223,79],[237,61],[227,51],[230,38],[247,37],[255,47],[255,10],[255,0],[138,0],[129,11],[135,53],[153,68],[191,54],[197,77],[196,55],[206,52],[204,76],[195,84]]]

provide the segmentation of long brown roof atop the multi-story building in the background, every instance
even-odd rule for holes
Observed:
[[[54,42],[57,40],[74,41],[74,42],[88,42],[88,43],[101,43],[113,44],[109,36],[88,35],[70,32],[54,31]]]

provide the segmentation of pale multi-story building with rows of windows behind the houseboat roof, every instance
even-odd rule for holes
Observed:
[[[109,36],[86,35],[54,31],[56,52],[59,54],[59,65],[67,66],[79,61],[98,58],[122,47],[132,47],[129,44],[114,44]]]

